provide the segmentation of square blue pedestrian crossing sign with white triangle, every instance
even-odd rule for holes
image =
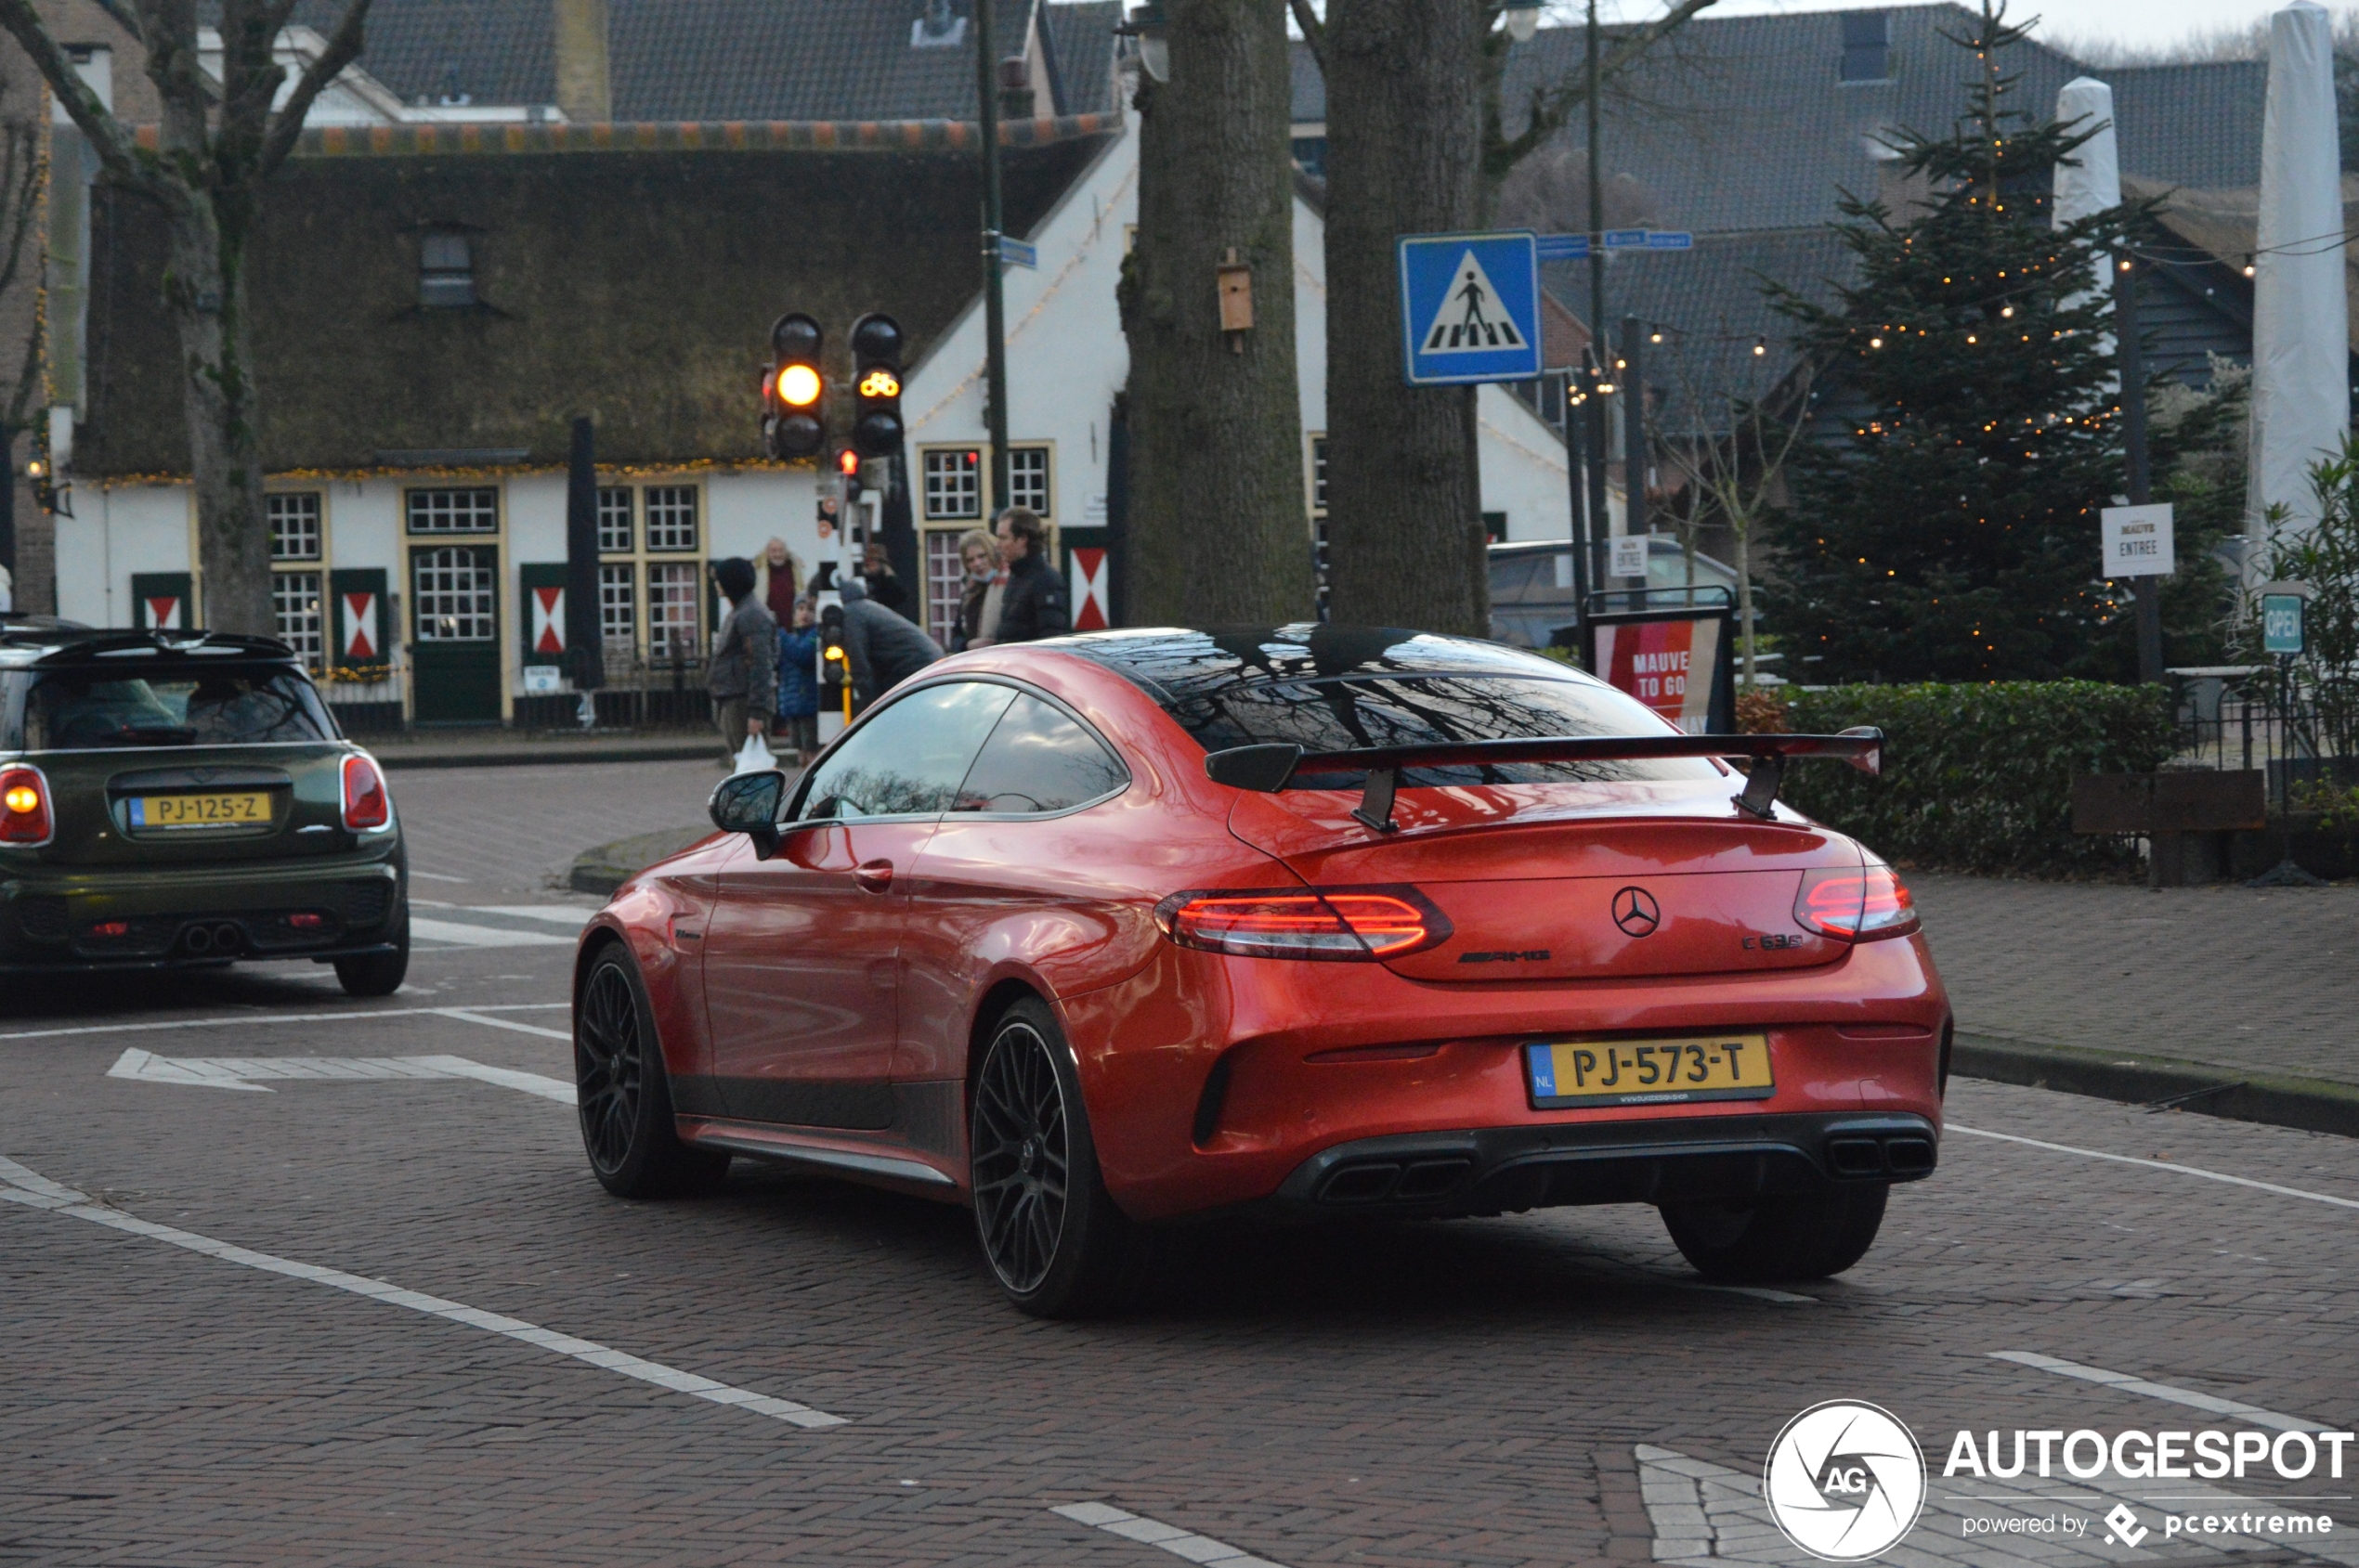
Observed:
[[[1540,252],[1526,233],[1404,233],[1401,370],[1411,387],[1540,375]]]

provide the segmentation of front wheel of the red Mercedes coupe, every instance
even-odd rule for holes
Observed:
[[[573,1096],[590,1172],[616,1198],[694,1198],[729,1177],[727,1153],[679,1141],[656,1014],[620,943],[590,962],[573,1002]]]

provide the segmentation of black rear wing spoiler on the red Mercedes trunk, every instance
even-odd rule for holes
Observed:
[[[1885,731],[1847,729],[1840,736],[1545,736],[1536,740],[1446,740],[1434,745],[1371,745],[1354,752],[1305,752],[1300,745],[1236,745],[1208,752],[1203,773],[1231,790],[1274,795],[1302,773],[1366,773],[1352,809],[1378,832],[1397,832],[1392,792],[1401,769],[1465,769],[1507,762],[1635,762],[1647,757],[1753,757],[1736,804],[1767,818],[1776,806],[1788,757],[1840,757],[1861,773],[1882,771]]]

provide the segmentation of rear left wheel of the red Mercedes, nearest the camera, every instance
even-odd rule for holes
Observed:
[[[991,1033],[967,1148],[974,1233],[1017,1309],[1087,1318],[1137,1294],[1149,1236],[1106,1195],[1073,1052],[1038,997],[1010,1007]]]

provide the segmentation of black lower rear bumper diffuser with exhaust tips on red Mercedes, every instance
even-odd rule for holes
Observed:
[[[1835,1186],[1923,1181],[1941,1134],[1923,1115],[1715,1115],[1481,1127],[1323,1148],[1269,1210],[1503,1214],[1588,1203],[1750,1203]]]

